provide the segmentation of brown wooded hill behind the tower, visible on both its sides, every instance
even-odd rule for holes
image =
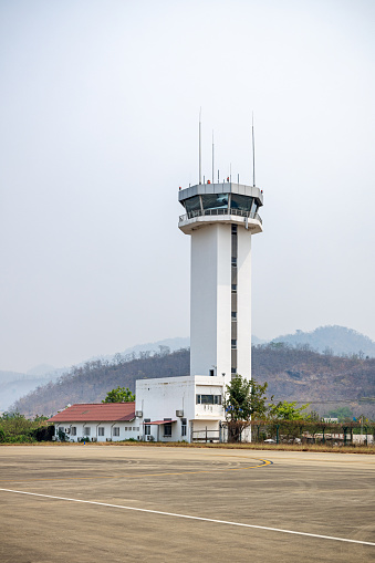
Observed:
[[[134,393],[136,379],[188,373],[189,350],[140,353],[140,357],[118,357],[113,364],[87,362],[21,398],[12,410],[28,417],[52,415],[67,404],[100,403],[117,386]],[[268,382],[268,397],[274,395],[277,400],[311,403],[321,415],[348,406],[353,415],[375,417],[375,358],[338,357],[312,352],[308,346],[298,350],[269,344],[252,348],[252,376],[259,383]]]

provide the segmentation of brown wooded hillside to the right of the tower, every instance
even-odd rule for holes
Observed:
[[[322,416],[336,407],[375,418],[375,358],[319,354],[285,344],[252,348],[252,376],[274,400],[310,403]]]

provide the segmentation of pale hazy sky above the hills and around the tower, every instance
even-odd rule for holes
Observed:
[[[1,0],[0,369],[189,333],[178,187],[257,185],[253,334],[375,340],[373,0]]]

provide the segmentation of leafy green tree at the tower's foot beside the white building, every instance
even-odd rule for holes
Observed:
[[[249,426],[251,416],[263,418],[267,413],[268,384],[236,375],[227,385],[223,407],[228,425],[228,441],[241,441],[242,430]]]

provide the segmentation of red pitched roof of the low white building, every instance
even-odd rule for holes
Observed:
[[[135,418],[135,402],[132,403],[79,403],[65,408],[49,419],[49,423],[105,423],[128,421]]]

